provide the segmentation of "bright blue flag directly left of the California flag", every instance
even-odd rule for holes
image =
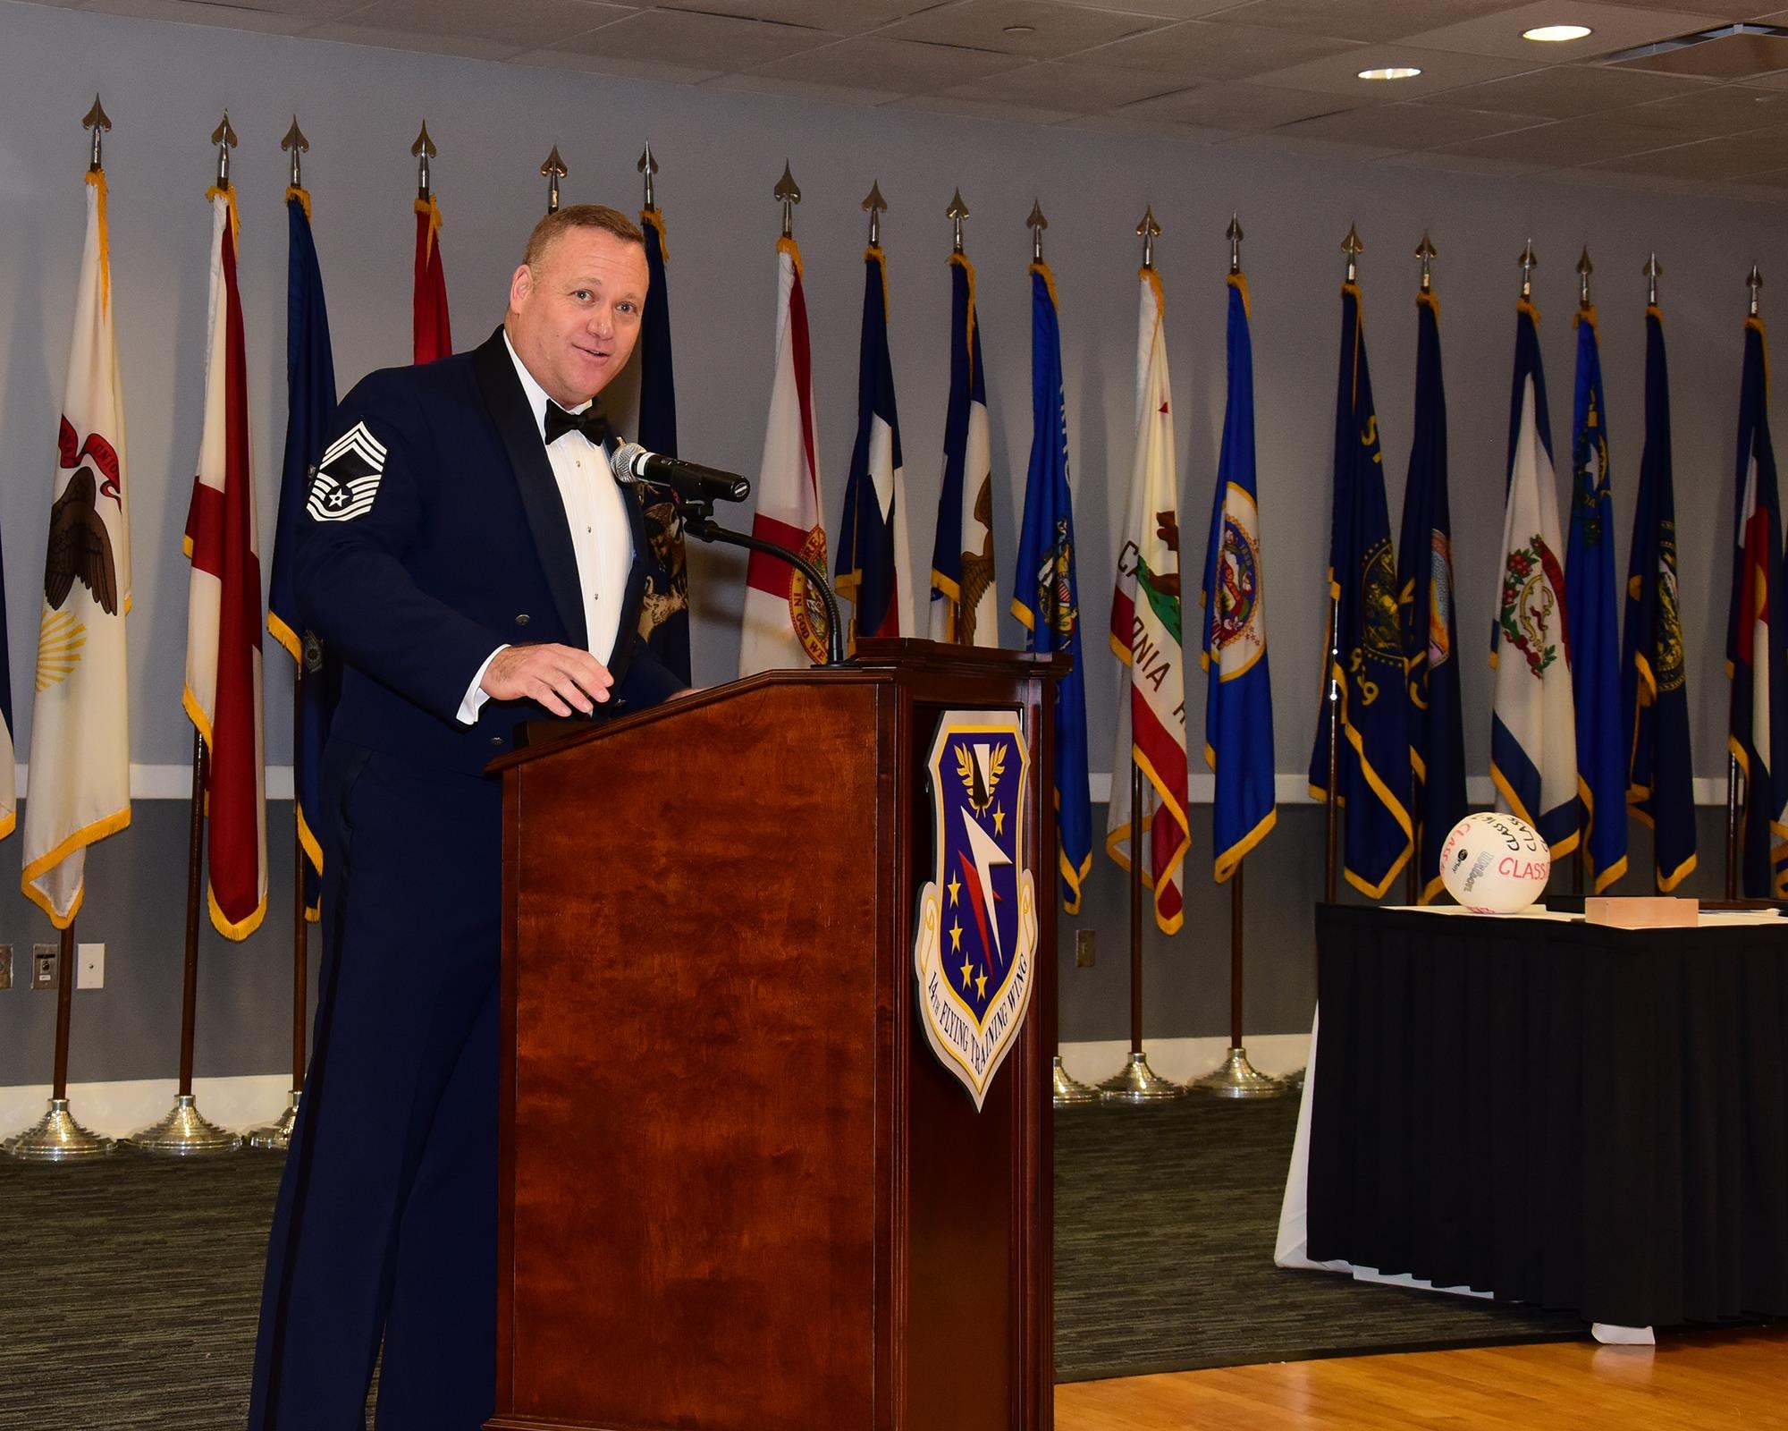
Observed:
[[[1080,658],[1080,592],[1075,581],[1075,499],[1067,487],[1067,395],[1062,329],[1050,265],[1030,265],[1030,472],[1017,547],[1012,615],[1032,651],[1067,651],[1073,669],[1055,685],[1055,835],[1062,907],[1080,912],[1092,869],[1092,794],[1087,783],[1087,680]]]

